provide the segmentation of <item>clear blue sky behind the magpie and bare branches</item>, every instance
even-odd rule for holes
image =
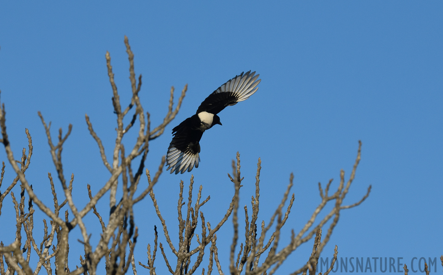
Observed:
[[[442,14],[441,1],[2,1],[0,89],[12,148],[18,158],[27,147],[27,127],[34,141],[27,178],[50,204],[47,172],[55,169],[37,111],[52,121],[54,137],[59,127],[66,131],[72,123],[64,171],[74,173],[74,198],[86,203],[86,184],[97,190],[108,172],[84,115],[109,155],[115,115],[105,52],[111,54],[121,98],[128,100],[127,35],[136,73],[143,75],[141,101],[153,124],[167,111],[171,85],[177,92],[189,85],[179,115],[150,144],[146,164],[151,170],[167,151],[171,129],[193,115],[207,95],[242,71],[260,73],[258,92],[222,111],[223,126],[207,131],[201,141],[201,163],[192,173],[196,187],[203,185],[203,196],[211,195],[202,211],[213,215],[213,223],[232,197],[226,173],[237,151],[245,176],[241,206],[250,205],[261,157],[259,219],[265,222],[294,173],[295,203],[284,232],[290,236],[289,229],[300,229],[319,203],[317,183],[334,178],[337,184],[340,169],[349,176],[361,140],[362,160],[346,203],[360,199],[370,184],[371,195],[342,212],[322,256],[332,256],[337,244],[339,257],[403,257],[408,266],[413,257],[438,259],[443,243]],[[4,152],[0,160],[6,161]],[[2,190],[14,177],[7,166]],[[177,224],[179,180],[186,184],[189,178],[190,173],[165,173],[154,188],[171,230]],[[2,232],[14,218],[6,211],[9,202],[2,210]],[[136,262],[146,263],[145,248],[160,222],[150,199],[137,209],[136,224],[143,230]],[[35,218],[35,230],[42,227],[40,221]],[[91,231],[94,226],[98,222],[91,217]],[[218,236],[223,257],[231,232],[226,224]],[[278,274],[306,263],[309,250],[311,244],[293,253]],[[80,253],[71,250],[71,264]],[[166,274],[161,257],[157,266]],[[437,267],[440,272],[438,262]]]

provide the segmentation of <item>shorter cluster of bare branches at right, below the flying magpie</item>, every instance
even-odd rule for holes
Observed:
[[[261,169],[261,161],[258,160],[257,163],[257,172],[256,172],[256,191],[255,196],[251,198],[251,208],[252,214],[249,216],[248,207],[245,206],[245,239],[240,245],[240,249],[236,252],[237,243],[239,238],[239,224],[238,224],[238,207],[239,207],[239,192],[242,187],[241,181],[243,178],[240,176],[240,154],[237,152],[237,162],[233,161],[233,173],[232,176],[228,174],[229,180],[234,184],[234,194],[232,201],[229,205],[228,210],[226,211],[223,219],[218,223],[214,229],[211,229],[211,225],[209,222],[205,223],[205,217],[203,212],[198,210],[201,206],[203,206],[210,197],[206,198],[203,202],[200,203],[202,186],[200,186],[197,194],[197,200],[195,202],[194,208],[192,207],[192,189],[194,180],[191,177],[190,185],[189,185],[189,197],[187,204],[187,216],[186,220],[182,218],[182,207],[184,205],[183,202],[183,181],[180,182],[180,193],[178,199],[178,217],[179,217],[179,244],[177,247],[174,246],[171,241],[171,237],[169,236],[166,222],[163,219],[157,201],[155,200],[154,192],[151,191],[151,199],[155,207],[155,211],[163,225],[163,233],[166,236],[167,243],[171,248],[171,251],[175,255],[176,265],[175,269],[171,267],[171,260],[167,259],[167,255],[164,252],[163,245],[160,243],[161,254],[167,264],[168,270],[171,274],[174,275],[182,275],[182,274],[193,274],[196,268],[202,263],[203,254],[206,246],[210,246],[210,258],[209,265],[207,269],[207,274],[211,274],[214,268],[214,262],[217,267],[219,274],[224,274],[222,271],[222,267],[220,261],[218,260],[218,249],[217,249],[217,235],[216,232],[220,229],[221,225],[227,220],[227,218],[232,215],[232,222],[234,226],[234,236],[231,244],[230,255],[229,255],[229,273],[230,274],[241,274],[245,271],[245,274],[256,275],[256,274],[274,274],[276,270],[280,267],[280,265],[288,258],[288,256],[297,249],[301,244],[306,243],[314,238],[314,245],[312,248],[312,253],[307,259],[307,263],[301,266],[298,270],[294,271],[292,274],[315,274],[316,267],[319,259],[319,255],[322,252],[324,246],[330,239],[330,236],[334,230],[334,227],[337,225],[338,219],[340,217],[340,211],[344,209],[349,209],[355,206],[358,206],[363,202],[368,196],[371,190],[369,186],[366,195],[358,202],[355,202],[352,205],[343,205],[343,199],[349,191],[350,185],[354,180],[355,171],[357,169],[358,163],[360,161],[360,152],[361,152],[361,142],[359,143],[358,155],[354,164],[354,168],[351,172],[349,180],[345,180],[345,172],[341,171],[340,173],[340,183],[338,185],[337,190],[330,195],[330,185],[332,180],[327,183],[325,190],[321,184],[319,183],[319,193],[322,201],[319,206],[314,210],[311,215],[311,218],[307,221],[306,225],[301,229],[297,234],[292,230],[292,234],[290,237],[290,243],[286,245],[284,248],[278,248],[279,240],[280,240],[280,232],[281,228],[285,225],[286,220],[288,219],[289,213],[291,212],[292,203],[294,202],[294,194],[291,195],[291,199],[289,199],[289,203],[287,209],[284,211],[283,208],[288,202],[289,192],[293,185],[293,175],[290,176],[289,184],[286,192],[283,195],[283,199],[280,202],[280,205],[275,210],[272,215],[270,222],[266,225],[264,221],[261,221],[260,229],[257,228],[257,218],[259,214],[259,197],[260,197],[260,169]],[[316,225],[315,219],[319,216],[321,211],[324,209],[326,204],[330,201],[335,202],[334,208],[330,210],[328,214]],[[195,229],[198,225],[198,215],[200,215],[201,222],[201,239],[198,234],[194,233]],[[250,219],[250,220],[249,220]],[[329,225],[328,231],[326,233],[326,237],[322,240],[322,227],[332,219],[332,223]],[[266,234],[269,230],[274,226],[274,231],[271,233],[271,236],[266,238]],[[184,234],[183,234],[184,233]],[[259,234],[260,233],[260,234]],[[197,239],[197,244],[195,247],[191,247],[191,240],[195,236]],[[257,238],[258,237],[258,238]],[[287,238],[287,237],[286,237]],[[155,229],[155,241],[154,241],[154,249],[151,251],[151,247],[148,246],[148,264],[144,265],[139,262],[139,264],[147,269],[149,269],[150,274],[155,273],[155,254],[157,252],[157,231]],[[334,257],[331,263],[331,266],[325,274],[329,273],[330,270],[334,267],[335,260],[337,259],[337,246],[334,250]],[[264,257],[260,261],[260,257],[267,252],[267,256]],[[191,261],[191,256],[194,254],[198,254],[197,259]],[[174,260],[175,261],[175,260]],[[204,269],[203,273],[204,274]]]

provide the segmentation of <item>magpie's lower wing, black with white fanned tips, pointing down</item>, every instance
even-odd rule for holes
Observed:
[[[193,127],[192,118],[185,119],[182,123],[172,129],[171,144],[167,149],[166,165],[175,174],[190,172],[192,168],[198,167],[200,161],[200,144],[203,132]]]

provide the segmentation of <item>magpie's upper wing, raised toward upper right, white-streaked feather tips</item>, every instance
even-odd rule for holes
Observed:
[[[255,72],[241,73],[233,79],[227,81],[225,84],[218,87],[212,94],[210,94],[202,104],[198,107],[197,113],[206,111],[211,114],[218,114],[226,106],[232,106],[237,102],[248,99],[253,93],[258,90],[256,87],[261,79],[257,80],[259,74],[254,76]]]

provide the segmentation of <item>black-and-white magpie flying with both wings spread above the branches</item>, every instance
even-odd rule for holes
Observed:
[[[197,109],[195,115],[185,119],[172,129],[173,138],[167,149],[166,166],[175,174],[190,172],[198,168],[200,161],[200,144],[203,132],[215,124],[220,124],[218,113],[226,106],[248,99],[258,90],[256,87],[261,79],[257,80],[255,72],[241,73],[210,94]]]

